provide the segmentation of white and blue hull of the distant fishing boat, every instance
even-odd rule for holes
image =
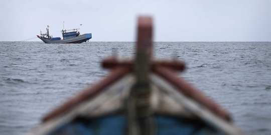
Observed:
[[[73,38],[62,39],[62,40],[50,40],[49,38],[45,38],[39,35],[37,36],[45,43],[82,43],[92,38],[91,33],[86,33],[86,34],[82,34]]]

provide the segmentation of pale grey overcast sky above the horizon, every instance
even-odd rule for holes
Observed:
[[[0,41],[50,25],[92,33],[90,41],[134,41],[137,16],[154,18],[155,41],[271,41],[271,0],[1,0]],[[38,38],[31,41],[41,41]]]

